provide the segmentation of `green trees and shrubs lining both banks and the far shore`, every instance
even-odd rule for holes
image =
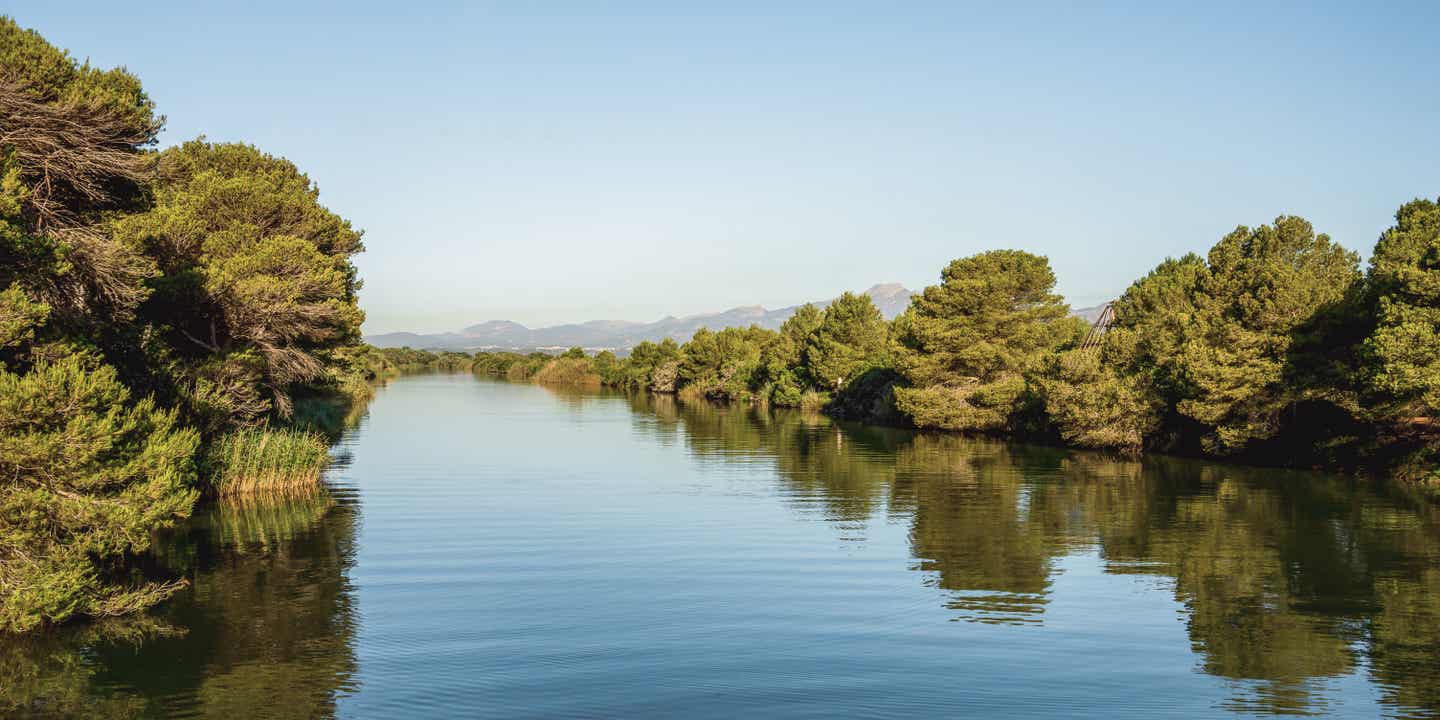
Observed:
[[[138,78],[0,16],[0,632],[132,615],[184,586],[137,559],[204,498],[318,488],[377,383],[469,370],[1135,455],[1440,481],[1440,203],[1369,266],[1299,217],[1168,259],[1103,336],[1045,258],[992,251],[886,323],[870,298],[779,331],[625,357],[361,343],[360,230],[298,167],[203,137],[158,148]]]

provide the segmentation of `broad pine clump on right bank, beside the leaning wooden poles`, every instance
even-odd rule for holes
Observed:
[[[1356,408],[1358,262],[1293,216],[1162,262],[1115,302],[1097,357],[1050,364],[1051,422],[1066,442],[1125,452],[1333,442],[1332,419]]]

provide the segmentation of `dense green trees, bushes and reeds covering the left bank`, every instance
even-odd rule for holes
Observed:
[[[360,343],[360,232],[292,163],[160,150],[140,79],[0,16],[0,632],[132,615],[206,498],[318,490],[399,372]]]

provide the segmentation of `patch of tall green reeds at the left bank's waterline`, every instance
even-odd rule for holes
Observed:
[[[206,455],[206,475],[217,495],[300,494],[320,487],[330,461],[324,438],[312,432],[246,428],[220,436]]]

